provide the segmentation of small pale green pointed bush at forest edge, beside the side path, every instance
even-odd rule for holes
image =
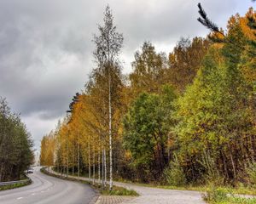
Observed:
[[[164,177],[166,183],[174,186],[183,186],[186,184],[186,177],[183,172],[183,167],[181,167],[177,156],[174,157],[174,160],[170,162],[169,167],[166,167],[164,171]]]

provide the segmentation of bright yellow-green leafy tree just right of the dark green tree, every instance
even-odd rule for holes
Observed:
[[[225,137],[224,108],[224,66],[218,62],[219,53],[211,50],[195,82],[187,88],[185,94],[177,99],[177,134],[179,144],[178,157],[186,163],[186,177],[191,180],[201,178],[200,163],[203,150],[218,150],[223,146]],[[199,165],[200,164],[200,165]],[[195,167],[197,166],[197,167]],[[202,165],[201,165],[202,166]],[[206,167],[205,167],[206,168]],[[207,169],[205,170],[207,171]]]

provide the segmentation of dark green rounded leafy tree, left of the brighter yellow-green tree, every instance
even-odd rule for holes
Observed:
[[[161,173],[167,164],[167,135],[172,122],[175,94],[165,86],[162,94],[140,94],[124,118],[124,146],[131,151],[132,166],[147,177]]]

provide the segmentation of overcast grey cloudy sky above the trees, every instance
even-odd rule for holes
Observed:
[[[39,149],[44,133],[65,115],[93,67],[91,42],[107,4],[125,42],[123,71],[131,71],[143,41],[169,53],[180,37],[206,36],[199,0],[1,0],[0,96],[20,112]],[[245,14],[250,0],[201,0],[218,26]],[[254,3],[255,4],[255,3]],[[255,5],[254,5],[255,8]]]

